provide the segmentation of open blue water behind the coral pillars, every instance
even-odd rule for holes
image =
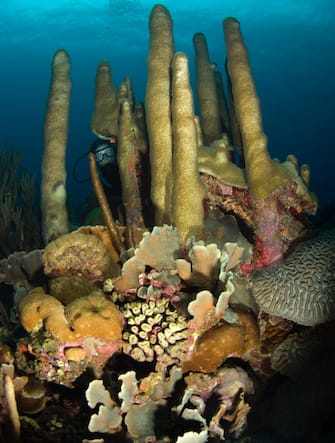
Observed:
[[[1,0],[0,142],[25,152],[39,176],[50,63],[65,48],[72,60],[68,193],[89,184],[72,176],[75,159],[94,139],[90,129],[97,64],[108,60],[116,86],[133,81],[144,100],[149,0]],[[294,153],[312,170],[311,189],[322,207],[335,203],[335,1],[167,0],[176,49],[194,66],[192,36],[205,33],[211,59],[224,71],[222,19],[241,22],[261,99],[272,157]],[[193,80],[193,77],[192,77]],[[83,174],[88,169],[82,165]],[[86,175],[87,175],[86,174]]]

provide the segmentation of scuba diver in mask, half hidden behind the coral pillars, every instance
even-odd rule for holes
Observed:
[[[73,166],[73,177],[77,183],[86,183],[91,180],[79,179],[77,177],[77,168],[79,163],[90,152],[93,152],[95,161],[99,170],[100,180],[104,187],[106,197],[108,199],[109,206],[111,208],[113,217],[116,219],[119,215],[119,208],[122,205],[122,187],[119,174],[119,168],[117,164],[117,137],[112,135],[109,139],[97,139],[91,144],[91,148],[88,152],[82,154]],[[89,215],[94,209],[98,208],[98,202],[94,192],[87,199],[87,207],[85,208],[85,214],[83,217]]]

